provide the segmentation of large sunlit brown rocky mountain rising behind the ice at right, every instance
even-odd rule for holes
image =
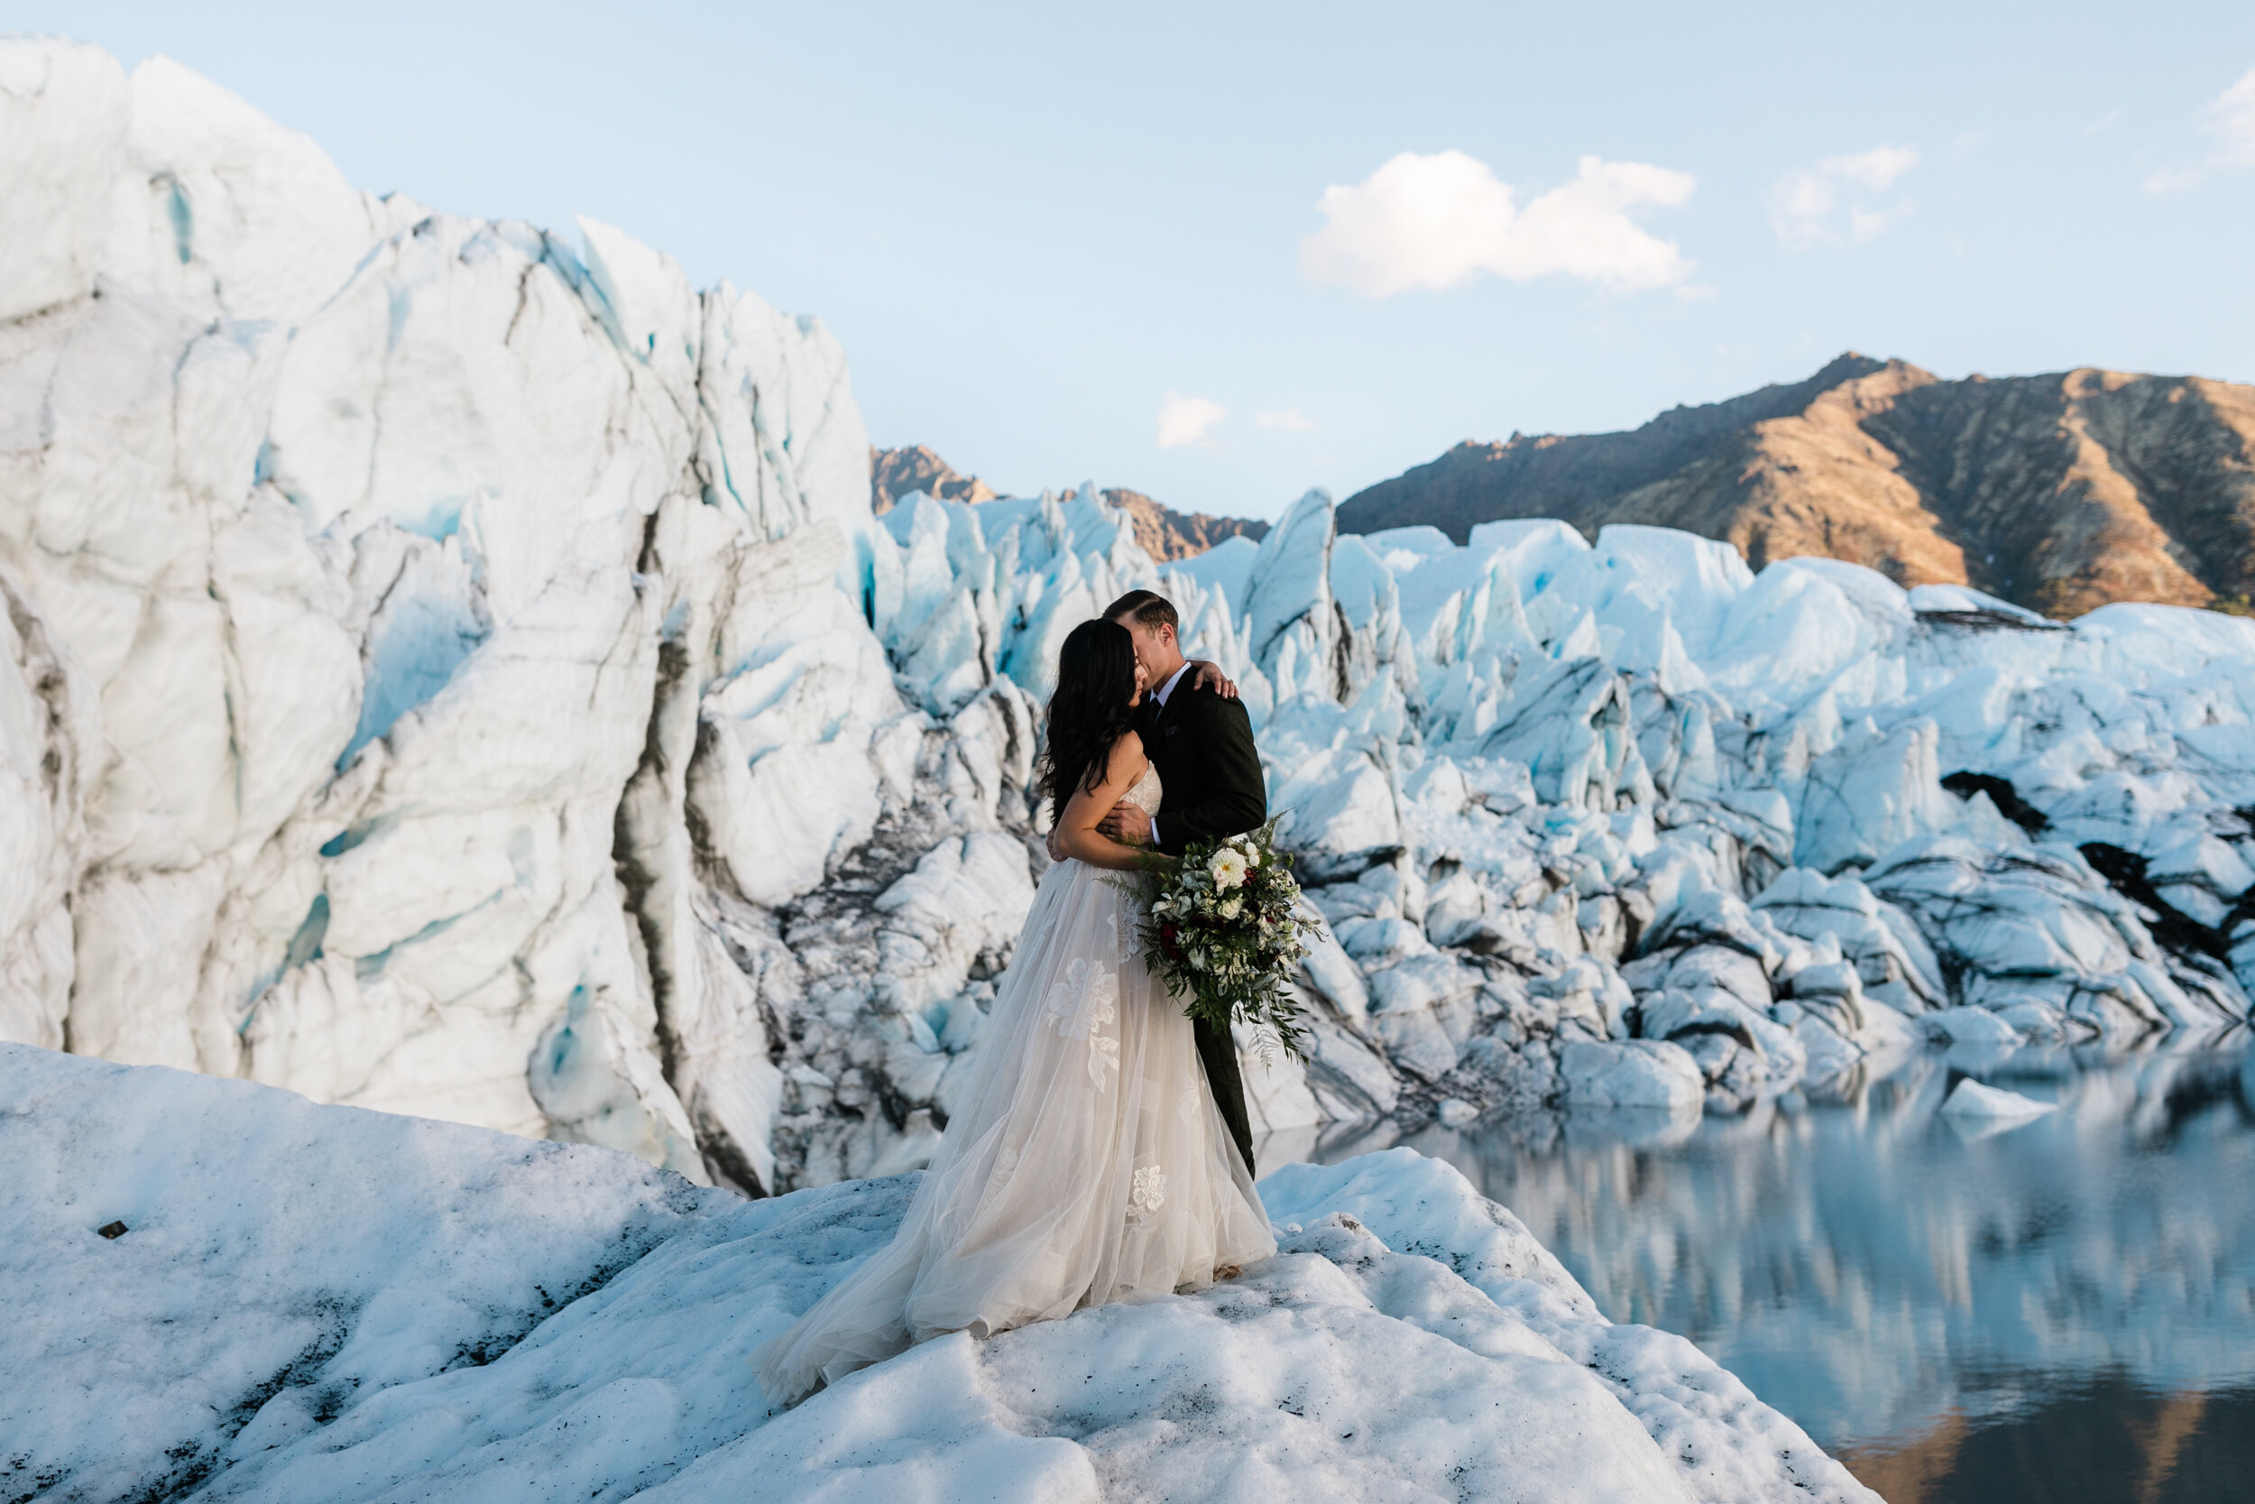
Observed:
[[[1849,559],[2059,618],[2228,604],[2255,589],[2255,388],[2093,368],[1944,381],[1849,352],[1628,433],[1457,444],[1339,507],[1348,532],[1457,541],[1531,516],[1682,528],[1754,568]]]

